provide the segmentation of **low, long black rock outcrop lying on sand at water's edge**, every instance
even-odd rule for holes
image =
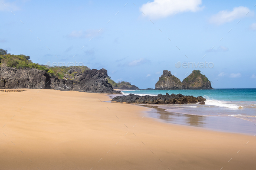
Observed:
[[[204,99],[202,96],[183,96],[182,94],[171,94],[166,95],[158,94],[158,96],[139,96],[135,94],[129,94],[127,96],[117,96],[112,99],[112,102],[119,103],[140,103],[140,104],[190,104],[198,103],[204,104]]]

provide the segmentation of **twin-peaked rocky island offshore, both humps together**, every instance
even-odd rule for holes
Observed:
[[[171,71],[164,70],[155,84],[155,90],[181,90],[181,89],[212,89],[211,82],[199,70],[194,70],[182,82],[171,74]]]

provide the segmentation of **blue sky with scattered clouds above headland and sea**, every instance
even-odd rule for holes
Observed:
[[[39,64],[82,62],[105,68],[116,82],[139,88],[154,88],[163,70],[182,81],[194,69],[213,88],[255,88],[255,4],[0,0],[0,48],[30,55]],[[178,62],[212,62],[214,67],[176,68]]]

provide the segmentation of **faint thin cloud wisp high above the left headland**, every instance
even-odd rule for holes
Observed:
[[[72,31],[68,37],[70,38],[93,38],[101,34],[101,32],[98,32],[99,30],[95,29],[88,29],[86,31]]]

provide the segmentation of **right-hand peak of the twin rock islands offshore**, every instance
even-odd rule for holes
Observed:
[[[199,70],[194,70],[182,81],[183,89],[212,89],[211,82],[201,74]]]

